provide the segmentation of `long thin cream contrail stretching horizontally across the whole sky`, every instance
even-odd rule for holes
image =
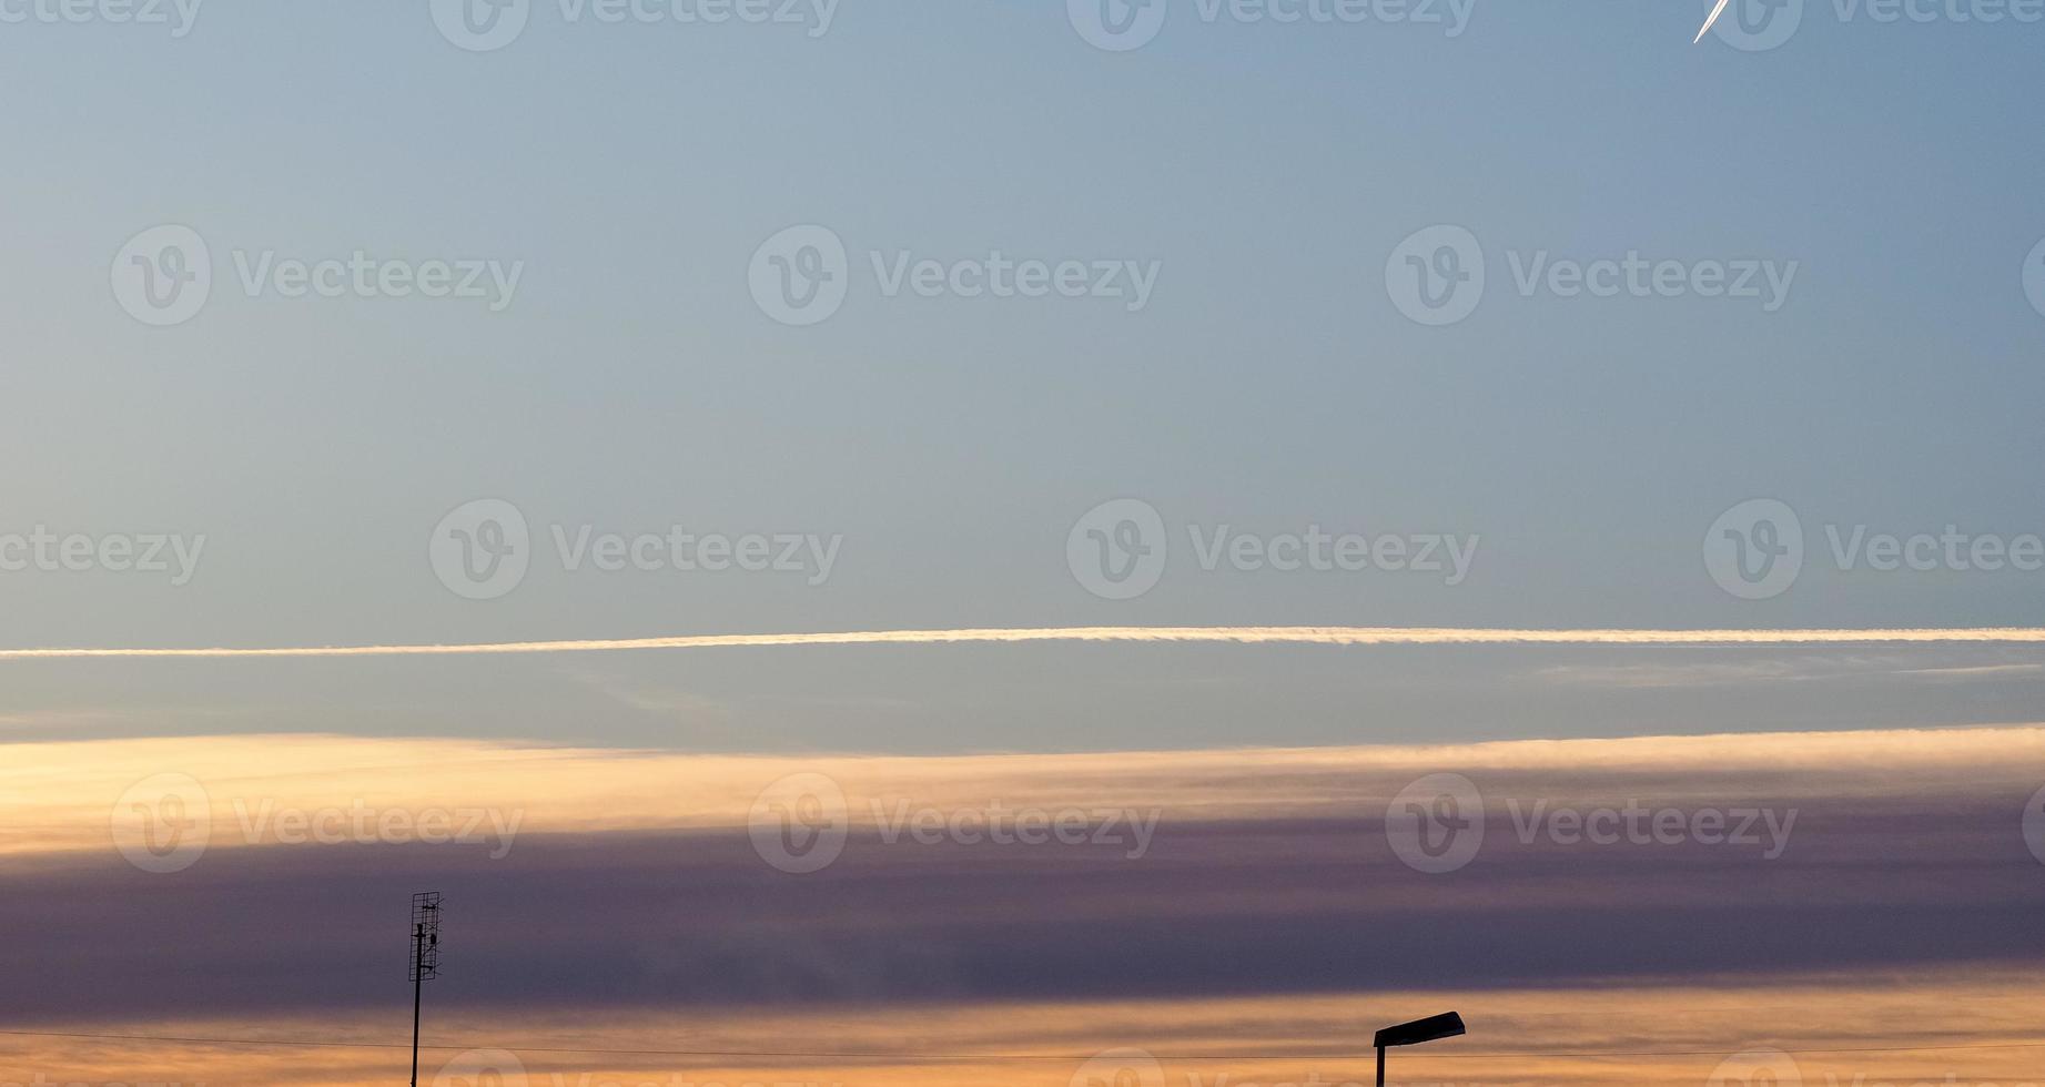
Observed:
[[[965,627],[822,633],[691,633],[581,642],[481,642],[466,646],[288,646],[190,650],[0,650],[0,660],[272,658],[272,656],[505,656],[630,650],[746,650],[779,646],[947,646],[1006,642],[1166,642],[1237,646],[1863,646],[2045,644],[2045,627],[1957,629],[1493,629],[1493,627]]]

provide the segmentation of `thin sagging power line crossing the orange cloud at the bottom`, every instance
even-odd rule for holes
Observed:
[[[262,1040],[262,1038],[182,1038],[182,1036],[162,1036],[162,1034],[84,1034],[84,1032],[61,1032],[61,1030],[0,1030],[0,1034],[16,1038],[74,1038],[74,1040],[94,1040],[94,1042],[149,1042],[149,1044],[186,1044],[186,1046],[276,1046],[276,1048],[358,1048],[358,1050],[401,1050],[409,1048],[403,1042],[327,1042],[327,1040]],[[479,1044],[454,1044],[454,1046],[419,1046],[423,1050],[472,1050],[472,1048],[503,1048],[503,1046],[479,1046]],[[1953,1052],[1953,1050],[2029,1050],[2045,1048],[2045,1042],[1967,1042],[1967,1044],[1933,1044],[1933,1046],[1828,1046],[1828,1048],[1783,1048],[1789,1054],[1828,1054],[1828,1052]],[[513,1052],[575,1052],[575,1054],[595,1054],[595,1056],[744,1056],[761,1060],[804,1060],[804,1058],[828,1058],[828,1060],[992,1060],[992,1062],[1020,1062],[1020,1060],[1063,1060],[1063,1062],[1084,1062],[1094,1054],[1065,1054],[1065,1052],[875,1052],[875,1050],[618,1050],[618,1048],[581,1048],[581,1046],[513,1046]],[[1732,1050],[1487,1050],[1487,1052],[1429,1052],[1432,1060],[1503,1060],[1503,1058],[1601,1058],[1601,1056],[1726,1056]],[[1202,1056],[1172,1056],[1172,1060],[1282,1060],[1297,1054],[1272,1054],[1272,1052],[1237,1052],[1237,1054],[1202,1054]],[[1329,1056],[1337,1060],[1368,1060],[1370,1054],[1315,1054]]]

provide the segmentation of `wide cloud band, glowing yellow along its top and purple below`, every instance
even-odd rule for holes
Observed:
[[[755,758],[456,740],[14,744],[0,778],[10,895],[0,1018],[354,1013],[391,999],[405,899],[448,893],[436,999],[517,1013],[926,1005],[1644,985],[1703,975],[1992,968],[2035,958],[2045,872],[2018,834],[2045,727],[959,758]],[[115,797],[207,783],[215,844],[129,866]],[[746,813],[830,776],[851,830],[791,877]],[[1403,864],[1391,799],[1468,774],[1483,852]],[[517,811],[487,844],[235,842],[249,811]],[[888,840],[892,811],[1157,809],[1127,844]],[[1779,858],[1681,840],[1521,838],[1532,811],[1796,811]],[[256,842],[256,844],[249,844]]]

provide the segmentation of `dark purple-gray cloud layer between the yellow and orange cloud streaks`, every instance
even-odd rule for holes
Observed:
[[[1601,791],[1614,785],[1652,805],[1671,783]],[[1540,787],[1499,778],[1487,795]],[[0,1015],[397,1007],[405,901],[425,887],[450,901],[436,999],[479,1007],[1192,997],[2037,956],[2045,868],[2018,834],[2014,783],[1896,801],[1761,789],[1736,803],[1800,807],[1779,860],[1521,844],[1495,803],[1483,854],[1440,877],[1403,866],[1376,817],[1168,817],[1141,860],[859,832],[812,877],[769,868],[742,832],[528,836],[505,860],[252,848],[176,875],[25,860],[0,901],[0,975],[16,979]]]

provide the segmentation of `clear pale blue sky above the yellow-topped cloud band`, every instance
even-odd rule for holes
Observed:
[[[1701,14],[1479,2],[1448,37],[1205,22],[1186,2],[1127,53],[1088,45],[1059,4],[1018,2],[847,4],[822,37],[571,25],[546,2],[487,53],[411,4],[209,6],[182,39],[8,25],[0,65],[18,106],[0,139],[35,168],[0,178],[16,208],[0,227],[0,454],[14,466],[0,531],[202,533],[207,552],[182,586],[8,574],[4,642],[2031,623],[2045,574],[1838,570],[1822,533],[2045,531],[2045,315],[2020,278],[2045,237],[2045,145],[2027,110],[2045,27],[1881,25],[1812,4],[1789,43],[1748,53],[1691,47]],[[755,304],[746,268],[804,223],[843,239],[849,294],[828,321],[787,327]],[[207,306],[174,327],[127,319],[108,288],[123,243],[157,225],[192,227],[215,264]],[[1468,229],[1489,264],[1483,302],[1448,327],[1409,321],[1387,292],[1387,259],[1432,225]],[[235,280],[233,253],[356,249],[519,264],[521,278],[501,313],[247,296]],[[1139,262],[1155,290],[1139,313],[890,298],[871,266],[994,249]],[[1538,253],[1630,251],[1796,262],[1796,278],[1775,313],[1515,286],[1513,262]],[[1065,539],[1123,497],[1160,511],[1174,554],[1155,588],[1104,601],[1067,570]],[[1742,601],[1712,582],[1699,539],[1755,497],[1796,509],[1812,556],[1791,590]],[[517,505],[542,548],[552,525],[687,525],[843,537],[843,552],[822,584],[571,574],[536,552],[515,593],[479,603],[427,562],[436,523],[474,499]],[[1454,586],[1200,570],[1186,529],[1219,525],[1476,535],[1481,550]],[[953,682],[930,670],[982,654],[939,652],[937,668],[879,666],[902,678],[877,687],[920,699]],[[1072,664],[988,656],[1002,676],[988,682],[1016,689],[1039,687],[1043,660]],[[1497,676],[1479,656],[1432,666]],[[1100,668],[1184,674],[1196,660]],[[1245,684],[1329,703],[1303,738],[1356,738],[1348,668],[1335,680],[1301,654],[1229,660]],[[863,697],[873,674],[843,654],[806,660],[802,680],[765,660],[720,662],[720,680],[605,666],[748,697]],[[25,668],[25,689],[74,680],[49,668]],[[115,672],[117,689],[151,682]],[[282,672],[243,670],[237,695],[213,670],[166,682],[215,709],[297,707],[299,682],[325,682]],[[376,727],[364,711],[413,705],[413,682],[466,691],[454,672],[376,672],[362,695],[358,668],[348,687],[364,705],[348,715]],[[1115,703],[1115,680],[1088,676],[1072,699]],[[526,693],[476,715],[521,721],[534,705],[556,703]],[[1577,719],[1566,705],[1536,715],[1472,707],[1468,727]],[[1074,731],[1098,738],[1108,713],[1082,717]]]

